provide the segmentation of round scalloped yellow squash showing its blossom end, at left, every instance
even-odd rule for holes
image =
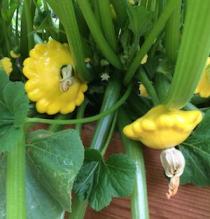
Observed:
[[[72,112],[84,100],[87,84],[73,74],[73,61],[67,44],[55,40],[37,44],[25,59],[25,90],[36,102],[39,113]]]

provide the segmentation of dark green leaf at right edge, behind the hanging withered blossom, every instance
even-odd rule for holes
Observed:
[[[192,135],[180,145],[186,166],[181,183],[210,185],[210,110]]]

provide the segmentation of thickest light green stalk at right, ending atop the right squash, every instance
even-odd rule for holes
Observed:
[[[166,104],[181,108],[192,97],[210,52],[210,2],[188,0],[183,36]]]

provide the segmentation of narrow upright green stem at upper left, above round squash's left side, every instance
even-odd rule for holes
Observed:
[[[33,20],[31,14],[31,0],[25,0],[23,4],[23,10],[26,19],[26,28],[27,28],[27,38],[28,38],[28,49],[31,50],[34,46],[33,39]]]

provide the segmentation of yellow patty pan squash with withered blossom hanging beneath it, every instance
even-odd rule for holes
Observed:
[[[158,105],[143,117],[124,127],[124,134],[154,149],[182,143],[202,120],[199,110],[183,111]]]

